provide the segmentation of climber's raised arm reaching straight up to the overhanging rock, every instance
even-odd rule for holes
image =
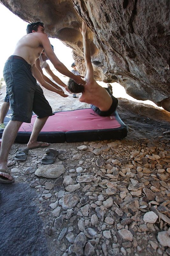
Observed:
[[[94,71],[91,62],[91,54],[90,54],[90,45],[87,34],[87,25],[83,21],[82,27],[80,28],[81,34],[83,36],[83,48],[84,48],[84,57],[85,57],[85,66],[86,66],[86,81],[89,83],[94,81]]]

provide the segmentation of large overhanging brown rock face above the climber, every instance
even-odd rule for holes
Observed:
[[[28,22],[44,21],[48,36],[73,49],[84,73],[82,19],[89,29],[95,78],[118,82],[138,100],[170,111],[168,1],[10,1],[0,0]]]

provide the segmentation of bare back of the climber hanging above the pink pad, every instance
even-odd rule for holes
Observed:
[[[112,98],[106,89],[94,80],[88,83],[86,80],[85,91],[79,97],[79,101],[86,102],[98,107],[101,111],[107,111],[112,105]]]

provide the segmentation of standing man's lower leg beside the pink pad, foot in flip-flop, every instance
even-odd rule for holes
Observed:
[[[31,133],[30,140],[28,141],[27,148],[38,147],[42,145],[42,142],[37,141],[38,134],[41,132],[42,127],[46,123],[48,116],[43,118],[37,118],[35,120],[33,131]],[[44,142],[43,145],[49,145],[49,143]]]

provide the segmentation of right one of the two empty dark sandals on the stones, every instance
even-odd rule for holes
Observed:
[[[46,149],[46,155],[42,157],[41,164],[54,164],[56,157],[58,156],[58,150],[53,148]],[[58,156],[59,160],[65,160],[66,157],[61,158]]]

